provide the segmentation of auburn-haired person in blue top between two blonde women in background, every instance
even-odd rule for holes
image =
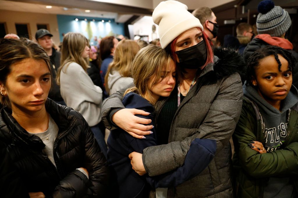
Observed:
[[[109,64],[113,61],[114,52],[119,41],[115,37],[104,37],[100,42],[100,58],[103,61],[100,66],[101,81],[105,82]],[[104,84],[103,84],[103,87]]]

